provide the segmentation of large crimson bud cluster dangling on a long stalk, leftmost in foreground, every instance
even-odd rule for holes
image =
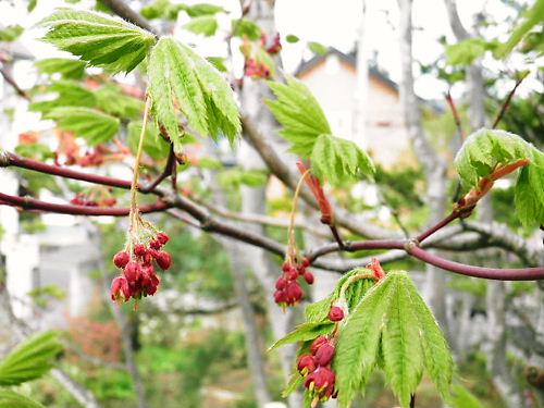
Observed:
[[[119,251],[113,257],[115,267],[123,270],[123,274],[111,283],[111,299],[127,301],[131,298],[140,299],[143,296],[152,296],[157,293],[160,279],[156,273],[154,263],[162,270],[172,265],[172,257],[162,250],[170,237],[158,233],[147,245],[134,245],[133,254],[126,250]]]

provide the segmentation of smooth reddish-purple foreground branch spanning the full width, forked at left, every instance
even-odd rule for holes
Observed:
[[[53,174],[62,177],[81,180],[89,183],[102,184],[124,189],[128,189],[131,187],[131,183],[127,181],[108,176],[99,176],[95,174],[82,173],[70,169],[40,163],[30,159],[23,159],[12,153],[0,152],[0,166],[9,166],[9,165],[21,166],[24,169],[34,170],[41,173]],[[511,170],[512,168],[519,165],[522,165],[522,163],[521,162],[514,163],[507,170]],[[497,174],[492,175],[490,177],[490,181],[496,180],[495,177],[498,175],[503,175],[505,169],[497,169]],[[203,231],[228,236],[237,240],[244,242],[246,244],[261,247],[263,249],[269,250],[270,252],[280,256],[283,256],[285,254],[285,246],[282,245],[281,243],[277,243],[268,237],[263,237],[250,231],[237,227],[235,225],[230,225],[227,223],[224,223],[210,215],[210,213],[206,208],[198,206],[196,202],[191,201],[187,197],[175,195],[172,193],[169,194],[168,191],[159,187],[156,187],[153,190],[149,191],[149,194],[157,195],[161,198],[161,201],[158,201],[156,205],[151,205],[151,207],[149,208],[150,211],[156,211],[156,210],[164,211],[166,209],[170,209],[169,211],[171,212],[173,210],[172,207],[175,207],[180,210],[187,212],[195,220],[197,220],[199,222],[198,227]],[[52,205],[52,203],[44,203],[44,201],[35,199],[12,197],[4,194],[0,194],[0,202],[1,201],[24,208],[33,208],[33,206],[35,206],[34,207],[35,209],[41,209],[45,211],[55,212],[54,210],[62,210],[60,211],[62,213],[96,214],[97,212],[102,212],[101,214],[104,215],[106,214],[121,215],[120,213],[115,213],[115,211],[125,211],[125,214],[127,213],[127,209],[100,209],[100,208],[92,208],[92,207],[88,208],[82,206]],[[47,206],[44,207],[44,205]],[[159,208],[160,207],[163,208],[158,209],[157,206],[159,206]],[[337,252],[337,251],[357,251],[364,249],[397,249],[397,250],[400,249],[406,251],[406,254],[422,260],[423,262],[431,263],[444,270],[468,276],[503,280],[503,281],[520,281],[520,280],[533,281],[533,280],[544,279],[543,267],[524,268],[524,269],[492,269],[492,268],[473,267],[446,260],[444,258],[430,254],[419,247],[419,243],[421,240],[424,240],[431,235],[435,234],[455,219],[465,217],[468,213],[470,213],[470,211],[469,208],[467,207],[455,209],[454,212],[448,217],[446,217],[444,220],[431,226],[428,231],[421,233],[417,237],[419,239],[411,239],[411,240],[373,239],[373,240],[360,240],[351,243],[346,242],[343,243],[343,245],[338,243],[329,243],[317,249],[308,251],[306,256],[312,261],[312,264],[314,267],[329,269],[326,261],[321,262],[319,260],[320,257],[326,254]]]

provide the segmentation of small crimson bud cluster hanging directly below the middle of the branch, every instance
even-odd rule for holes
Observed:
[[[294,306],[302,299],[304,292],[298,277],[302,276],[309,285],[313,283],[313,274],[306,270],[309,265],[307,258],[304,258],[299,265],[288,260],[283,263],[283,273],[275,283],[274,300],[277,305]]]

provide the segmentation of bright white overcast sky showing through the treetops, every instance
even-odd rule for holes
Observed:
[[[176,1],[176,0],[171,0]],[[178,1],[178,0],[177,0]],[[205,0],[183,0],[184,3],[203,2]],[[232,11],[230,16],[220,16],[220,27],[226,33],[232,17],[239,15],[238,0],[206,0],[207,2],[223,5]],[[496,20],[503,20],[511,10],[505,7],[500,0],[458,0],[458,9],[461,21],[470,27],[474,14],[485,10]],[[129,1],[133,5],[139,1]],[[94,0],[82,0],[76,7],[89,7]],[[283,37],[294,34],[300,38],[298,44],[286,44],[282,53],[283,64],[286,72],[293,72],[300,63],[301,58],[310,58],[311,52],[307,49],[307,41],[318,41],[325,46],[331,46],[341,51],[348,52],[358,37],[358,29],[361,25],[361,0],[276,0],[275,24]],[[23,21],[21,16],[26,14],[26,1],[23,0],[0,0],[0,23],[2,25],[22,24],[33,27],[40,18],[49,14],[55,7],[66,5],[62,0],[38,1],[36,10]],[[67,4],[73,7],[72,4]],[[399,78],[399,46],[398,30],[396,29],[398,20],[398,8],[396,0],[367,0],[368,26],[366,27],[367,41],[372,51],[378,52],[380,67],[386,71],[392,79]],[[178,26],[188,21],[188,17],[181,13]],[[443,46],[438,44],[438,38],[446,36],[449,42],[455,42],[455,38],[449,29],[446,9],[442,0],[415,0],[413,2],[413,55],[417,61],[423,64],[432,63],[438,59],[443,52]],[[497,33],[502,27],[496,28]],[[23,44],[32,50],[38,58],[50,57],[58,51],[50,46],[36,40],[39,29],[30,29],[25,33]],[[183,38],[188,42],[194,42],[205,54],[224,54],[224,44],[221,37],[202,39],[202,37],[187,32],[182,33]],[[238,61],[240,60],[238,55]],[[493,62],[484,60],[484,64],[493,65]],[[490,65],[490,66],[491,66]],[[417,75],[418,76],[418,75]],[[30,81],[27,77],[20,78],[23,82]],[[535,86],[527,85],[527,88]],[[32,84],[28,84],[32,85]],[[446,85],[433,78],[431,75],[418,77],[416,91],[425,99],[443,98]],[[453,89],[454,97],[459,97],[462,92],[462,85]],[[520,90],[523,94],[523,89]]]

